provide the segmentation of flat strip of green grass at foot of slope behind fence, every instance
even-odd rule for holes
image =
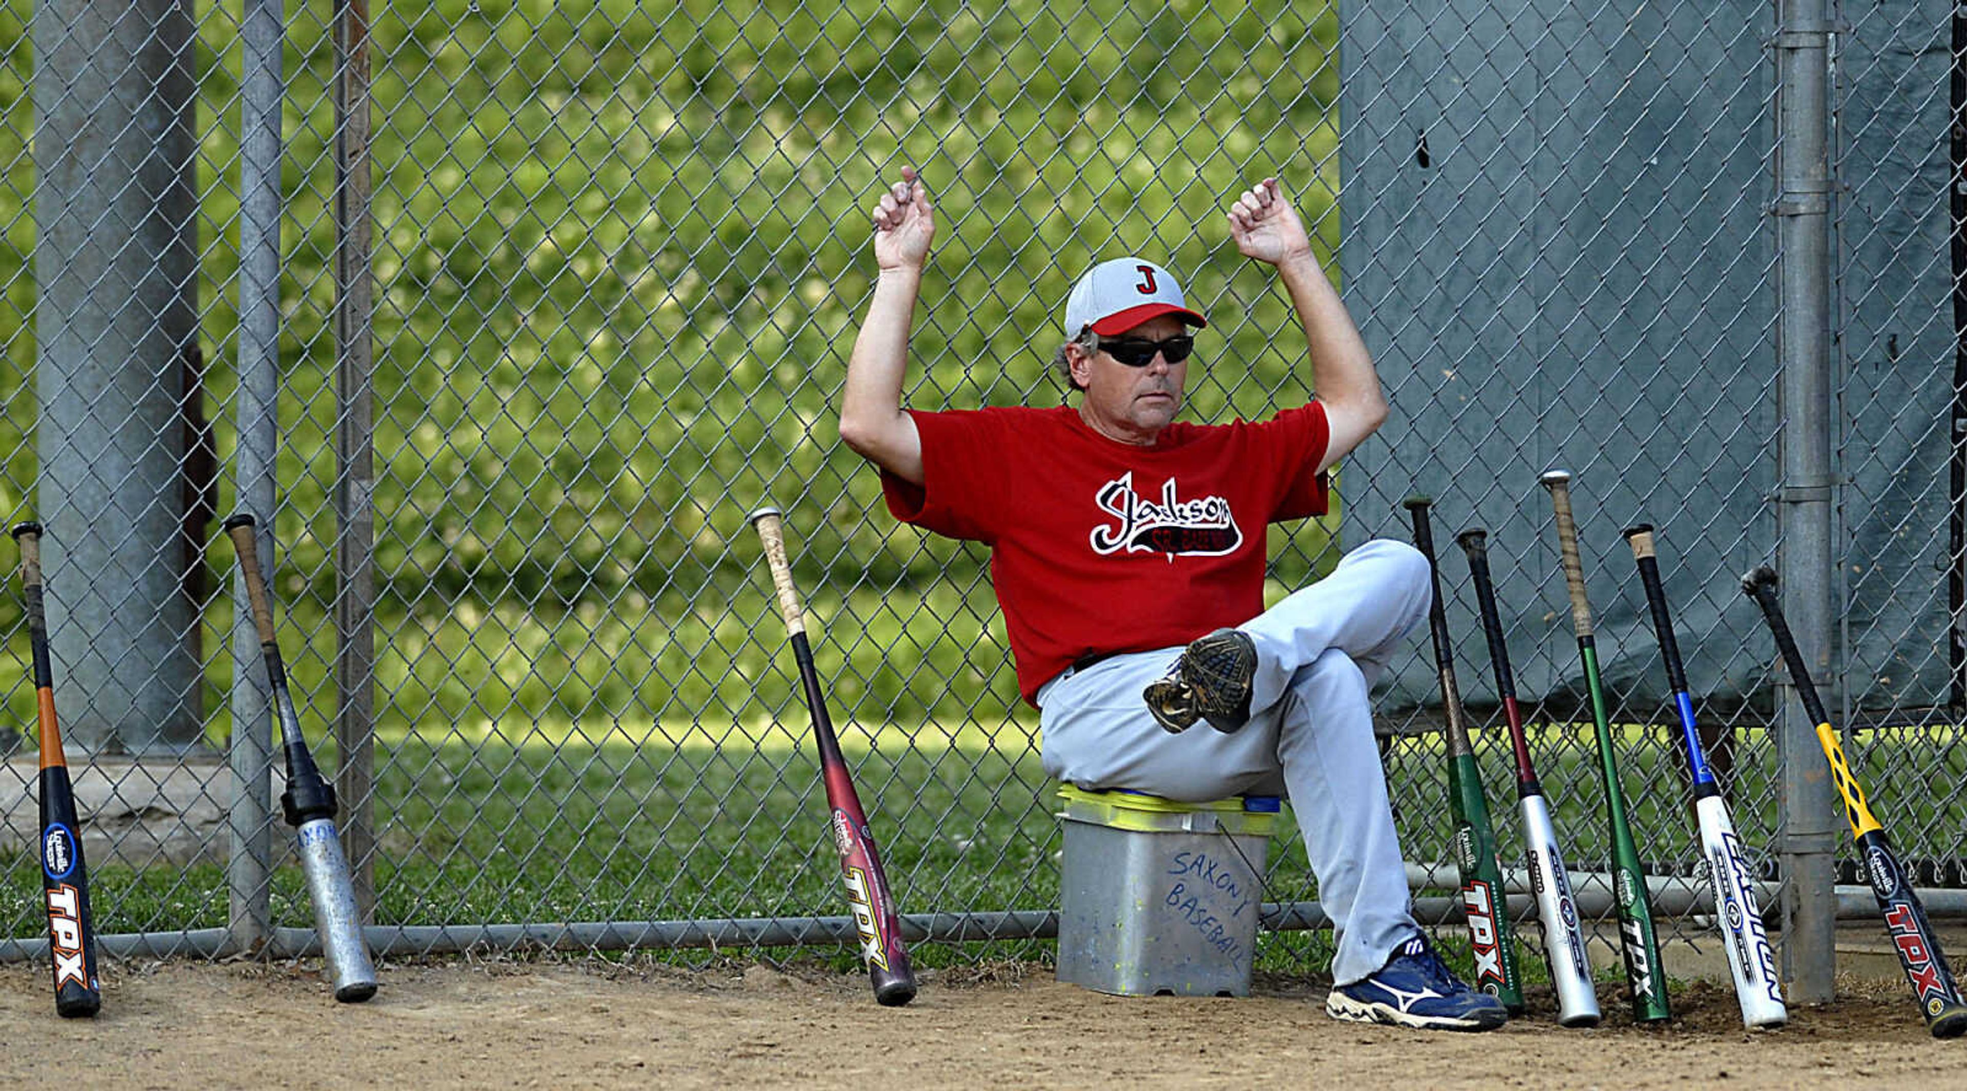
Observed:
[[[783,721],[588,725],[507,731],[456,723],[393,735],[378,753],[380,924],[659,920],[838,912],[836,857],[803,710]],[[1566,731],[1576,735],[1578,729]],[[911,912],[1054,908],[1058,820],[1052,784],[1021,723],[842,725],[858,788],[875,816],[897,896]],[[1536,745],[1552,749],[1554,731]],[[1639,743],[1644,729],[1625,731]],[[1585,737],[1589,733],[1585,731]],[[334,751],[319,747],[332,767]],[[1483,755],[1495,780],[1503,763]],[[1625,767],[1642,855],[1694,857],[1686,790],[1672,759],[1635,745]],[[1389,757],[1408,859],[1448,861],[1440,739],[1402,739]],[[1755,769],[1766,765],[1753,763]],[[1755,847],[1772,796],[1745,765],[1735,818]],[[1546,763],[1574,869],[1603,853],[1595,765]],[[1658,788],[1670,784],[1670,788]],[[1489,784],[1505,863],[1520,859],[1513,796]],[[1926,814],[1918,808],[1918,814]],[[1900,814],[1912,812],[1908,804]],[[1908,826],[1914,826],[1908,822]],[[275,832],[285,837],[285,828]],[[33,859],[14,934],[31,932]],[[106,932],[222,926],[218,867],[98,867]],[[1273,841],[1269,898],[1316,896],[1302,841]],[[275,918],[309,920],[291,869]]]

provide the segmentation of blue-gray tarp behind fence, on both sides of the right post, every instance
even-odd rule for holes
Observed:
[[[1908,47],[1908,18],[1845,35],[1833,92],[1851,187],[1835,252],[1847,434],[1833,450],[1851,486],[1833,603],[1849,603],[1865,706],[1939,704],[1949,686],[1947,12],[1926,8],[1910,33],[1934,41]],[[1489,704],[1454,545],[1485,527],[1519,692],[1570,706],[1581,676],[1538,474],[1572,470],[1605,680],[1629,712],[1666,700],[1621,537],[1637,521],[1658,527],[1696,698],[1760,698],[1772,645],[1737,580],[1778,546],[1772,6],[1340,10],[1340,267],[1393,399],[1340,474],[1343,545],[1406,539],[1401,499],[1436,497],[1458,674]],[[1426,641],[1412,649],[1387,710],[1438,704]]]

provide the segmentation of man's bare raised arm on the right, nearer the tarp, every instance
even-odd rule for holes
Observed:
[[[1312,389],[1326,407],[1332,440],[1318,470],[1330,468],[1387,421],[1373,356],[1365,350],[1340,293],[1312,256],[1312,240],[1277,179],[1243,191],[1229,208],[1229,238],[1257,261],[1277,265],[1298,311],[1312,358]]]

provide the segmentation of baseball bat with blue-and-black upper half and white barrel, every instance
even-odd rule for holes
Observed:
[[[1782,1026],[1790,1020],[1790,1010],[1782,1005],[1782,987],[1776,983],[1776,955],[1768,947],[1768,932],[1762,928],[1762,914],[1755,904],[1755,885],[1749,877],[1749,865],[1743,861],[1741,837],[1735,835],[1735,820],[1729,818],[1721,784],[1707,769],[1707,755],[1701,751],[1699,727],[1694,721],[1694,698],[1688,694],[1688,672],[1680,662],[1680,645],[1674,643],[1674,619],[1666,615],[1666,592],[1660,586],[1652,527],[1646,523],[1627,527],[1625,541],[1633,546],[1639,578],[1646,586],[1652,629],[1660,639],[1660,659],[1666,660],[1666,684],[1672,688],[1674,708],[1680,712],[1680,745],[1686,749],[1688,778],[1694,782],[1694,818],[1701,832],[1707,879],[1715,890],[1715,912],[1727,932],[1723,947],[1727,947],[1729,973],[1735,977],[1741,1020],[1751,1028]]]

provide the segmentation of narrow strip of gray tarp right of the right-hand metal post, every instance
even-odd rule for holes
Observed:
[[[1839,35],[1835,320],[1843,334],[1847,684],[1867,710],[1947,700],[1949,18],[1932,0],[1845,12]]]

